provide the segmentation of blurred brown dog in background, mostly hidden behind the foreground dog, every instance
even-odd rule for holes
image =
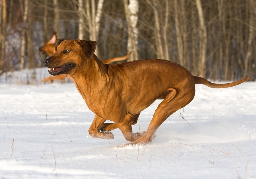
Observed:
[[[55,53],[55,41],[57,40],[57,35],[56,32],[53,33],[51,39],[49,41],[47,41],[42,47],[39,47],[39,51],[41,51],[42,53],[46,53],[47,55],[53,55]],[[114,58],[110,58],[107,60],[101,60],[104,64],[109,64],[112,62],[116,62],[116,61],[122,61],[127,59],[132,52],[128,53],[127,55],[123,56],[123,57],[114,57]],[[66,77],[68,77],[69,79],[72,79],[69,75],[67,74],[61,74],[61,75],[56,75],[56,76],[49,76],[47,78],[44,78],[41,80],[41,82],[47,82],[49,81],[50,83],[53,83],[53,80],[62,80],[64,81],[66,79]]]

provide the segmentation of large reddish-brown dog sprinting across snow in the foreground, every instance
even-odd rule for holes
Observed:
[[[149,143],[166,118],[193,100],[195,84],[228,88],[249,79],[213,84],[193,76],[177,63],[159,59],[104,64],[94,54],[96,44],[96,41],[57,39],[56,53],[43,60],[51,75],[69,74],[75,81],[89,109],[96,114],[89,128],[92,137],[113,139],[109,130],[119,128],[130,144]],[[156,99],[163,101],[148,129],[133,133],[131,125]],[[114,123],[105,124],[106,119]]]

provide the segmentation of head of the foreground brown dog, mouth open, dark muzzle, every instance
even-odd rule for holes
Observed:
[[[73,74],[76,68],[82,67],[88,59],[92,59],[97,42],[87,40],[57,39],[56,53],[43,60],[49,74]]]

